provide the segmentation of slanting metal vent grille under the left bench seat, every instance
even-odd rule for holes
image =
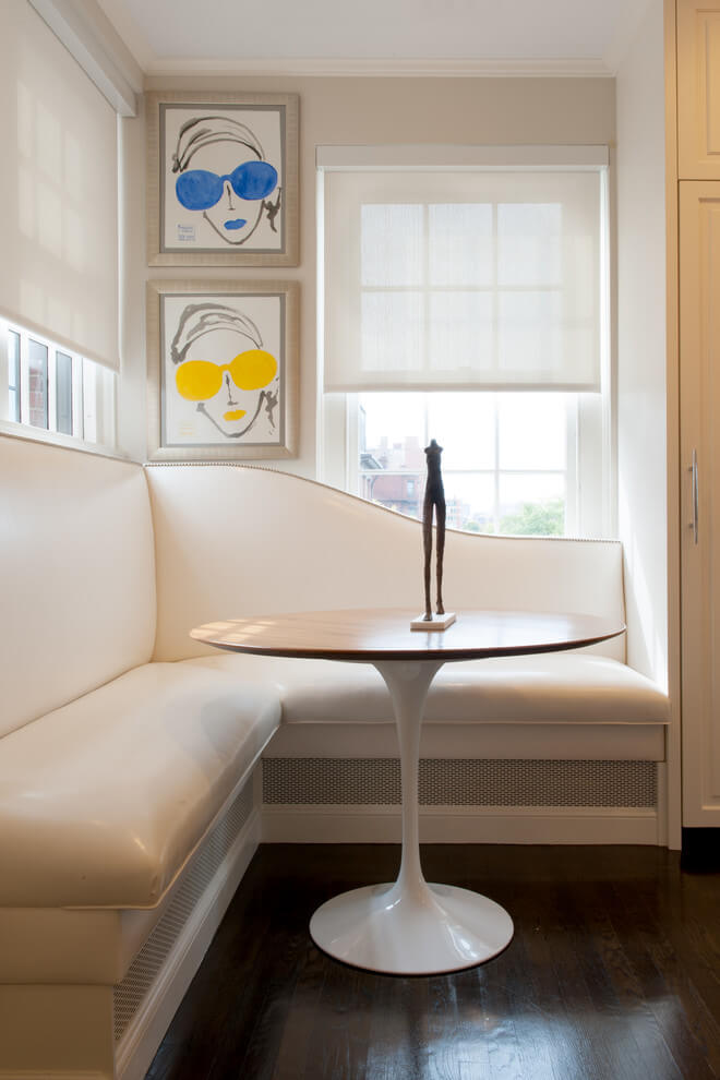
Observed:
[[[247,783],[218,821],[177,887],[167,911],[112,993],[115,1041],[135,1016],[195,904],[252,813],[252,782]]]

